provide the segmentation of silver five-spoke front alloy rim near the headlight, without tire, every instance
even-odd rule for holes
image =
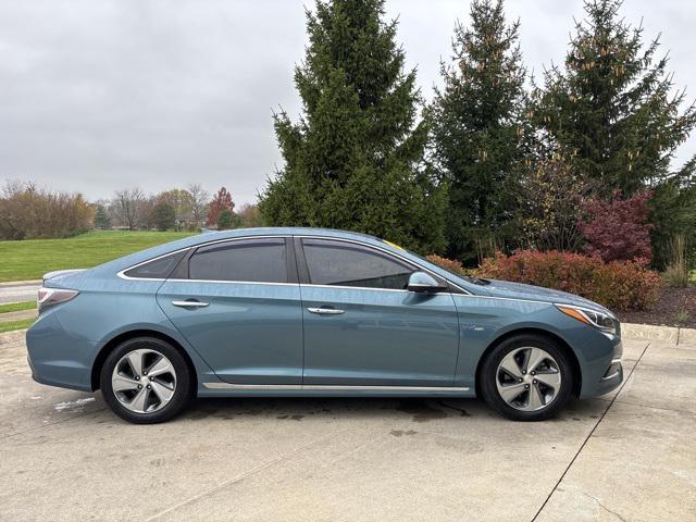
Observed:
[[[538,411],[548,407],[561,388],[558,362],[546,350],[522,347],[510,351],[496,372],[498,394],[512,408]]]

